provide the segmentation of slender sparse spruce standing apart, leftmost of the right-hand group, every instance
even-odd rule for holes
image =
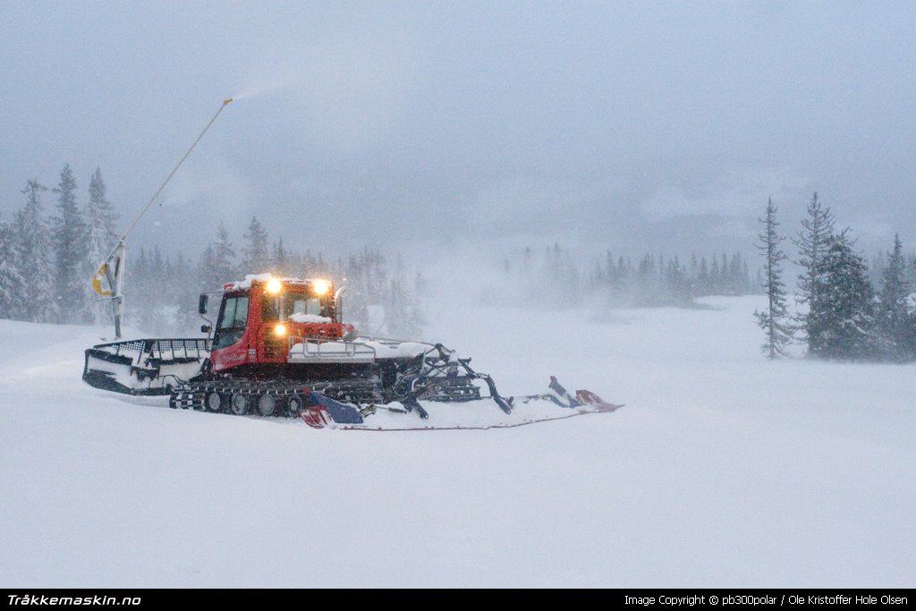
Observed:
[[[763,230],[758,235],[760,244],[755,245],[764,256],[764,269],[766,277],[763,288],[767,291],[767,310],[755,311],[757,323],[764,333],[766,340],[760,346],[764,355],[774,359],[785,356],[786,344],[792,339],[789,313],[786,308],[786,287],[782,282],[782,262],[788,256],[780,249],[780,243],[785,236],[777,233],[779,222],[776,213],[779,209],[773,205],[773,200],[767,202],[766,216],[759,219]]]

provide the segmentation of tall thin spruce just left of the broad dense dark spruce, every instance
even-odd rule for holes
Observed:
[[[823,325],[817,316],[824,311],[820,302],[821,295],[818,290],[823,284],[823,257],[826,253],[827,243],[834,234],[834,215],[830,208],[824,208],[817,199],[817,192],[808,203],[807,218],[802,219],[802,231],[792,240],[799,249],[798,265],[802,267],[799,275],[799,295],[797,300],[808,306],[808,312],[802,314],[797,322],[798,328],[808,339],[808,350],[812,351],[812,330],[817,330]]]

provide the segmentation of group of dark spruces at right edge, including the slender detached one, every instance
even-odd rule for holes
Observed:
[[[755,312],[766,339],[761,348],[769,358],[786,355],[786,347],[801,342],[813,357],[848,361],[911,361],[916,359],[916,301],[913,280],[916,257],[905,256],[900,235],[885,260],[878,262],[874,285],[867,260],[855,250],[850,228],[836,231],[834,214],[812,196],[802,228],[791,239],[797,248],[798,276],[794,300],[800,311],[789,310],[778,208],[769,200],[760,218],[758,249],[765,261],[764,289],[768,307]]]

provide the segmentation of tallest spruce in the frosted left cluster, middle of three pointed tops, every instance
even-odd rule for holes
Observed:
[[[85,320],[86,225],[76,204],[76,180],[70,164],[60,170],[57,215],[53,219],[54,297],[60,304],[60,322]]]

